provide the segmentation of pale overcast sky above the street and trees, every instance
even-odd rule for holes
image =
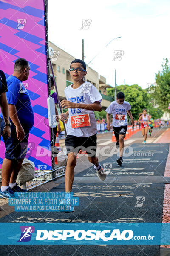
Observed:
[[[81,29],[82,19],[91,19],[89,29]],[[170,59],[169,0],[48,0],[49,41],[85,62],[100,52],[89,66],[114,86],[155,81],[163,58]],[[114,51],[122,50],[121,61],[113,61]]]

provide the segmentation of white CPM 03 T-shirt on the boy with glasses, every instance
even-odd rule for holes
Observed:
[[[92,104],[96,101],[101,102],[102,96],[96,87],[89,83],[85,82],[80,85],[77,89],[73,89],[71,84],[66,87],[64,92],[66,99],[80,104]],[[67,134],[77,137],[89,137],[97,133],[96,119],[94,116],[93,110],[87,110],[82,108],[68,108],[68,122],[67,122]],[[89,114],[90,126],[72,128],[71,125],[71,116],[85,115]]]

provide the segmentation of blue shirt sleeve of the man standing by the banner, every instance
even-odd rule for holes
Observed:
[[[11,84],[8,85],[8,92],[6,93],[8,104],[17,105],[19,90],[20,90],[20,84],[16,81],[12,81]]]

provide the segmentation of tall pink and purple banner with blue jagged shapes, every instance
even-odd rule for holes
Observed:
[[[0,69],[6,79],[13,73],[17,58],[30,64],[30,75],[24,82],[34,109],[34,127],[30,131],[26,157],[36,169],[51,169],[50,130],[48,117],[48,74],[45,47],[44,0],[0,1]],[[0,165],[5,157],[3,139]]]

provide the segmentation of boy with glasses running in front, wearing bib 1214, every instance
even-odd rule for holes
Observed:
[[[64,90],[67,100],[61,101],[62,108],[68,108],[68,111],[60,115],[62,122],[68,117],[67,137],[65,139],[68,154],[65,170],[66,192],[71,192],[77,154],[81,148],[85,148],[82,151],[86,151],[89,155],[88,160],[93,164],[97,176],[101,180],[106,178],[96,157],[97,125],[94,111],[102,111],[100,104],[102,96],[94,85],[84,81],[87,74],[84,61],[75,59],[71,62],[69,71],[73,84]]]

